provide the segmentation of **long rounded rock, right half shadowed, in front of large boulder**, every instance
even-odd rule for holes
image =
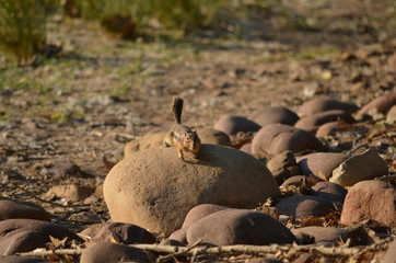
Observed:
[[[188,243],[199,240],[214,245],[265,245],[292,243],[294,236],[282,224],[264,213],[225,209],[206,216],[188,228]]]

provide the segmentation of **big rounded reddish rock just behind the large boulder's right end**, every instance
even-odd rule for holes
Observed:
[[[268,124],[253,138],[252,153],[257,158],[290,150],[323,150],[322,142],[311,133],[283,124]]]

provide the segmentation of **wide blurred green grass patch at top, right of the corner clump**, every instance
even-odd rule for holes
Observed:
[[[224,0],[81,0],[75,1],[82,18],[100,20],[112,30],[113,18],[130,18],[133,30],[142,34],[149,27],[182,30],[210,24]],[[110,20],[110,22],[113,22]],[[108,26],[110,25],[110,26]]]

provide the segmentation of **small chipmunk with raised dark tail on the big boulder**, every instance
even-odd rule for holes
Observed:
[[[201,140],[199,139],[196,130],[187,125],[182,124],[183,100],[175,98],[173,100],[173,115],[175,118],[175,126],[165,136],[162,146],[170,147],[176,146],[178,157],[184,161],[183,153],[185,151],[191,152],[194,158],[198,159]]]

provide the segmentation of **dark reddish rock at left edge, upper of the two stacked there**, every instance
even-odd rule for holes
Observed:
[[[50,221],[49,213],[37,204],[15,199],[0,199],[0,220],[14,218]]]

